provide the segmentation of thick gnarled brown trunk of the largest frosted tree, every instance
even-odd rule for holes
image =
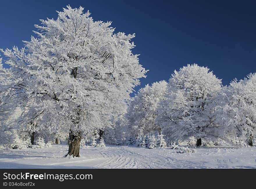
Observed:
[[[80,141],[81,141],[81,133],[78,133],[77,135],[74,135],[72,131],[69,133],[69,139],[67,141],[68,143],[67,155],[73,155],[73,157],[80,157],[80,154],[79,154]]]

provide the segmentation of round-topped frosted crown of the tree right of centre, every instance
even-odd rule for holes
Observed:
[[[174,71],[160,102],[157,122],[170,140],[211,135],[218,127],[216,96],[221,80],[207,67],[187,65]],[[200,141],[200,140],[199,140]]]

